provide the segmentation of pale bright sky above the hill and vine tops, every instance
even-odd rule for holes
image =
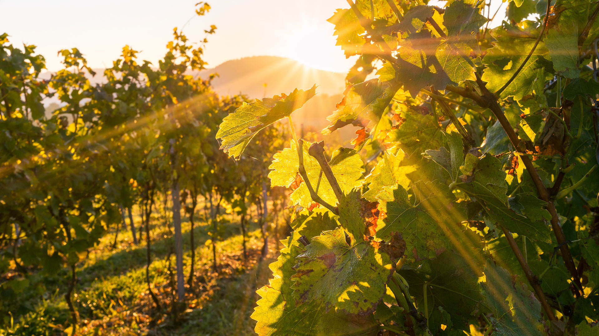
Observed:
[[[92,68],[110,67],[124,45],[141,51],[140,59],[157,64],[174,27],[184,27],[191,41],[200,41],[210,25],[217,30],[207,36],[208,68],[260,55],[290,57],[334,72],[347,72],[355,62],[335,46],[334,26],[326,22],[335,9],[349,7],[346,0],[211,0],[212,8],[203,17],[195,15],[196,2],[0,0],[0,33],[8,33],[14,45],[37,45],[50,71],[62,68],[57,52],[72,47]]]

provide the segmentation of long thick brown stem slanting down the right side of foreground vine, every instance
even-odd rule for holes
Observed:
[[[497,101],[497,97],[495,97],[494,94],[492,94],[491,91],[486,88],[485,83],[483,83],[478,74],[476,74],[476,82],[483,94],[482,96],[478,96],[471,91],[464,93],[468,94],[471,99],[474,99],[477,103],[479,103],[481,107],[488,107],[491,109],[491,112],[495,115],[495,118],[499,120],[501,127],[503,127],[504,131],[506,131],[507,137],[510,139],[514,149],[516,149],[516,152],[524,153],[525,151],[522,151],[520,148],[520,140],[518,139],[518,135],[516,135],[516,132],[514,132],[512,125],[510,125],[510,122],[506,118],[506,115],[503,114],[501,106],[499,106]],[[449,88],[449,85],[447,88],[453,90],[453,88]],[[534,167],[531,158],[528,155],[520,155],[520,158],[524,163],[524,166],[526,167],[531,179],[533,179],[533,182],[539,193],[539,198],[547,203],[547,211],[549,211],[551,215],[551,227],[553,228],[553,234],[555,234],[555,238],[561,245],[560,249],[562,252],[562,258],[564,259],[564,264],[568,268],[568,271],[570,271],[570,274],[574,279],[574,284],[578,286],[577,288],[582,288],[582,285],[580,284],[580,277],[578,275],[578,271],[576,270],[576,265],[574,265],[574,259],[570,253],[570,248],[568,248],[567,244],[563,244],[567,239],[565,238],[564,230],[562,230],[561,225],[559,224],[558,212],[555,209],[553,200],[549,197],[549,191],[543,184],[543,181],[541,181],[539,173],[537,173],[537,169]],[[578,289],[575,289],[575,293],[577,296],[580,295]]]

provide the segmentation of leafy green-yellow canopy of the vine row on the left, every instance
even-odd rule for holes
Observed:
[[[200,16],[210,10],[204,2],[197,6]],[[211,26],[205,33],[215,29]],[[35,320],[43,310],[38,308],[39,295],[56,287],[60,290],[55,295],[66,303],[60,314],[70,312],[69,322],[61,323],[69,324],[67,331],[75,334],[78,316],[86,310],[74,300],[78,267],[102,237],[111,230],[119,232],[121,222],[125,225],[126,210],[140,210],[141,240],[156,201],[166,204],[168,194],[171,200],[180,199],[190,214],[200,196],[233,202],[256,201],[262,195],[268,158],[282,147],[286,133],[269,122],[252,143],[247,141],[248,148],[264,157],[248,160],[243,181],[237,179],[237,163],[218,150],[215,136],[226,115],[249,105],[244,96],[214,93],[213,75],[189,75],[189,70],[205,68],[206,42],[207,38],[192,42],[175,28],[156,65],[138,59],[138,51],[126,45],[101,74],[87,65],[77,48],[61,50],[63,68],[50,80],[40,80],[45,60],[35,46],[20,49],[6,33],[0,35],[0,314],[14,316],[13,322],[0,320],[1,327]],[[101,77],[101,84],[92,85],[93,76]],[[299,97],[311,97],[314,90]],[[45,111],[47,99],[58,100],[58,109]],[[289,104],[284,109],[292,109]],[[174,185],[180,194],[173,194]],[[193,208],[186,207],[187,196]],[[166,206],[163,209],[166,212]],[[218,213],[215,209],[215,218]],[[166,214],[165,221],[168,227]],[[219,235],[217,222],[213,246]],[[137,242],[132,218],[129,225]],[[146,234],[151,236],[150,230]],[[146,239],[146,280],[152,297],[150,242],[155,238]],[[117,239],[114,236],[113,248]],[[193,246],[193,236],[189,239]],[[160,310],[158,300],[155,304]]]

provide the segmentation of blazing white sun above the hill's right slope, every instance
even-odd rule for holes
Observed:
[[[335,45],[332,33],[332,25],[295,26],[285,33],[283,54],[314,69],[347,71],[353,62],[348,62],[341,48]]]

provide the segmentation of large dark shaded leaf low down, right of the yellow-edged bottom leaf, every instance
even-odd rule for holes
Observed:
[[[473,318],[471,313],[476,312],[483,301],[478,286],[483,270],[481,260],[484,261],[480,255],[445,251],[437,258],[423,262],[418,270],[399,272],[409,283],[411,295],[423,297],[423,286],[427,287],[429,328],[440,328],[445,311],[454,326],[467,330],[468,320]]]

